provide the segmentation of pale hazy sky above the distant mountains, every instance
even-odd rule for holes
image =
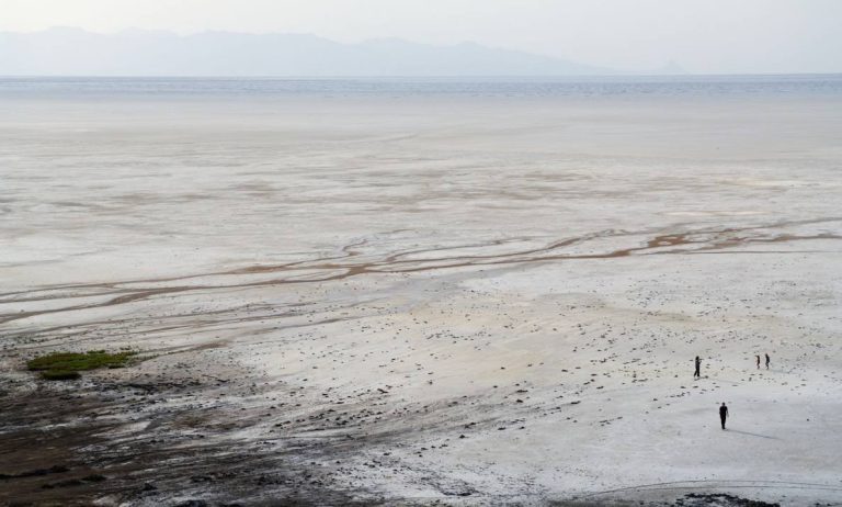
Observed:
[[[842,0],[0,0],[0,30],[312,33],[473,41],[692,72],[842,72]]]

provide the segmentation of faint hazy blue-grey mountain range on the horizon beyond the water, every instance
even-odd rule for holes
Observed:
[[[669,67],[672,74],[680,68]],[[315,35],[129,30],[0,32],[4,76],[587,76],[623,74],[474,43],[379,38],[341,44]]]

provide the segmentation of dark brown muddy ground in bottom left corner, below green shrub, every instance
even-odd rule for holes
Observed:
[[[236,436],[257,414],[203,403],[216,386],[86,376],[0,398],[0,505],[354,504],[311,461],[341,460],[353,443],[269,437],[268,449]]]

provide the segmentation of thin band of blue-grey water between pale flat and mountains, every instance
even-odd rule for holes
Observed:
[[[44,98],[842,95],[842,75],[594,78],[0,78],[0,100]]]

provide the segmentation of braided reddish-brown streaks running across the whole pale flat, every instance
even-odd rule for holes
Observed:
[[[838,218],[837,218],[838,219]],[[798,224],[815,223],[826,221],[801,221]],[[115,305],[123,305],[132,302],[143,301],[159,295],[171,295],[192,291],[214,291],[214,290],[236,290],[248,288],[264,288],[275,285],[293,285],[298,283],[323,283],[338,280],[344,280],[352,277],[359,277],[363,274],[386,274],[386,273],[413,273],[422,271],[445,270],[454,268],[470,268],[481,266],[501,266],[501,264],[525,264],[532,262],[548,262],[560,260],[596,260],[596,259],[616,259],[629,256],[644,256],[644,255],[682,255],[682,254],[698,254],[698,252],[713,252],[730,250],[736,247],[751,245],[751,244],[777,244],[777,243],[790,243],[790,241],[805,241],[813,239],[842,239],[842,236],[830,233],[822,233],[816,235],[794,235],[782,234],[776,236],[762,236],[758,230],[766,230],[773,227],[788,226],[793,223],[781,223],[773,226],[756,226],[744,228],[724,228],[718,230],[703,229],[696,232],[684,233],[670,233],[660,234],[647,239],[642,245],[615,249],[606,252],[595,254],[564,254],[558,250],[565,247],[585,244],[589,240],[607,238],[607,237],[625,237],[634,236],[635,233],[629,232],[602,232],[592,235],[568,238],[558,240],[545,245],[539,248],[528,248],[523,250],[511,251],[507,254],[487,254],[487,255],[473,255],[473,256],[442,256],[428,259],[406,259],[407,256],[430,252],[430,251],[448,251],[465,248],[479,248],[479,247],[493,247],[503,244],[512,243],[519,239],[497,239],[486,244],[471,244],[460,247],[448,248],[430,248],[419,249],[401,252],[392,252],[382,257],[379,260],[373,260],[368,262],[342,262],[340,260],[348,260],[361,255],[360,251],[352,248],[364,245],[364,241],[356,243],[354,245],[345,246],[343,256],[338,256],[331,259],[317,259],[317,260],[304,260],[297,262],[287,262],[283,264],[274,266],[259,266],[242,268],[230,271],[213,272],[205,274],[193,274],[189,277],[174,277],[170,279],[152,279],[147,280],[146,283],[162,283],[166,281],[180,281],[197,279],[202,277],[237,277],[242,274],[253,273],[294,273],[296,271],[314,271],[314,272],[331,272],[331,274],[316,275],[315,278],[277,278],[272,280],[262,280],[253,282],[240,282],[231,284],[183,284],[178,286],[164,286],[164,288],[138,288],[130,289],[120,286],[129,283],[143,283],[143,281],[129,281],[129,282],[114,282],[106,284],[86,284],[86,285],[64,285],[60,288],[46,288],[32,291],[31,294],[35,294],[33,297],[13,297],[7,301],[0,301],[0,304],[12,304],[30,301],[49,301],[49,300],[69,300],[76,297],[95,297],[95,296],[109,296],[116,295],[104,302],[80,304],[72,306],[65,306],[59,308],[38,309],[29,312],[19,312],[10,314],[0,314],[0,324],[9,323],[12,320],[19,320],[22,318],[33,317],[37,315],[46,315],[62,312],[72,312],[80,309],[102,308]],[[754,235],[751,235],[753,233]],[[520,238],[523,240],[524,238]],[[236,278],[235,278],[236,280]],[[59,296],[49,296],[43,294],[48,291],[68,290],[70,288],[84,288],[84,289],[100,289],[99,293],[83,293],[83,294],[69,294]],[[39,294],[42,293],[42,294]],[[14,295],[25,295],[25,292],[14,293]],[[10,294],[3,294],[9,296]]]

